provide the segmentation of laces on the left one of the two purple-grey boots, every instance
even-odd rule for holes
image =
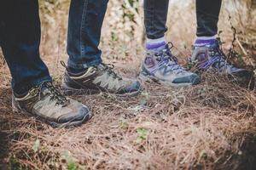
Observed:
[[[161,50],[160,53],[155,54],[158,56],[157,60],[162,61],[162,65],[167,65],[172,71],[176,71],[177,74],[184,71],[183,67],[178,65],[177,57],[172,55],[171,49],[173,48],[172,42],[166,44],[166,48]]]

